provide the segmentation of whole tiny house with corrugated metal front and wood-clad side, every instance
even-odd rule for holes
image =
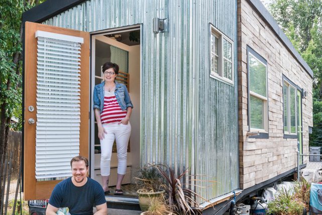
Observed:
[[[293,170],[294,119],[307,150],[312,72],[257,1],[47,0],[23,21],[25,199],[49,198],[79,154],[100,182],[92,93],[108,61],[120,65],[134,104],[124,186],[148,163],[188,168],[207,176],[195,182],[207,187],[195,190],[209,199],[204,213],[223,212],[232,191],[246,195]],[[295,88],[301,111],[284,111]]]

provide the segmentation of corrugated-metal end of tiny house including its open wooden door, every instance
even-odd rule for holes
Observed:
[[[100,182],[91,106],[106,61],[134,104],[125,183],[162,163],[218,181],[200,184],[207,199],[238,189],[236,1],[47,0],[23,19],[25,199],[48,198],[78,154]]]

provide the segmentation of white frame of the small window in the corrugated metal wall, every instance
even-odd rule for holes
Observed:
[[[217,80],[220,80],[220,81],[223,81],[225,83],[228,83],[230,85],[234,85],[234,75],[235,75],[235,72],[234,72],[234,41],[231,40],[229,37],[227,37],[223,32],[221,32],[220,30],[218,30],[216,27],[214,27],[211,23],[209,24],[209,76],[211,78],[214,78],[214,79],[217,79]],[[212,47],[211,47],[211,36],[214,36],[214,37],[217,37],[218,38],[218,48],[219,48],[219,51],[218,51],[218,73],[216,72],[212,72],[212,68],[211,68],[211,54],[213,53],[212,52]],[[227,61],[230,61],[229,59],[227,59],[226,57],[224,57],[224,46],[223,46],[223,43],[224,43],[224,40],[225,39],[227,42],[229,42],[232,46],[231,48],[231,56],[232,56],[232,59],[231,59],[231,63],[232,63],[232,79],[229,79],[229,78],[226,78],[224,77],[224,58],[227,60]]]

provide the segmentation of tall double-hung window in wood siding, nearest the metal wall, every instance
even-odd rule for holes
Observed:
[[[267,62],[248,47],[249,130],[268,133]],[[268,137],[267,137],[268,138]]]

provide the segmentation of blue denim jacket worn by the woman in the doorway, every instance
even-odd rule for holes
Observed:
[[[105,81],[95,85],[93,93],[93,109],[99,109],[100,113],[102,113],[104,107],[104,84]],[[133,108],[128,89],[123,83],[115,81],[115,96],[123,111],[127,110],[128,107]]]

